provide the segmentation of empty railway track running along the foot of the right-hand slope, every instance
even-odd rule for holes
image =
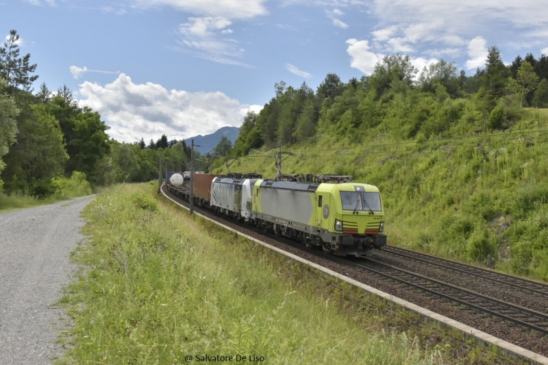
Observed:
[[[443,268],[444,270],[450,270],[460,275],[479,278],[495,285],[508,286],[514,290],[523,291],[528,294],[536,294],[548,298],[548,284],[540,283],[538,281],[523,279],[521,277],[514,277],[512,275],[506,275],[503,273],[497,273],[493,270],[488,270],[486,268],[479,268],[477,266],[471,266],[467,264],[462,264],[460,262],[445,260],[440,257],[427,255],[425,253],[418,253],[406,249],[400,249],[399,247],[390,246],[386,247],[383,251],[386,253],[390,253],[390,255],[405,257],[407,260],[414,260],[417,262],[422,262],[424,264],[437,266],[439,268]]]

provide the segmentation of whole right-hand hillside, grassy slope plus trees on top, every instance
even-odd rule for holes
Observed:
[[[274,177],[282,140],[293,153],[283,173],[378,186],[389,243],[548,280],[547,78],[545,55],[506,66],[491,47],[472,76],[390,55],[370,76],[329,74],[315,92],[280,82],[247,114],[230,168]]]

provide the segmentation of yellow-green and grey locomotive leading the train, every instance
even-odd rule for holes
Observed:
[[[253,223],[335,255],[368,255],[386,245],[379,190],[349,176],[259,179],[253,186]]]

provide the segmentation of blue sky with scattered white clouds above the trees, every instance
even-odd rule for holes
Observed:
[[[66,85],[111,138],[136,142],[239,127],[285,81],[370,75],[385,55],[440,59],[466,75],[497,46],[503,61],[548,55],[545,0],[0,0],[50,90]]]

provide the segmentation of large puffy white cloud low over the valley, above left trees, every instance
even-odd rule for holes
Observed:
[[[89,106],[105,118],[108,134],[119,141],[188,138],[210,134],[224,126],[239,127],[248,110],[258,112],[260,105],[240,104],[222,92],[166,90],[147,82],[134,84],[121,74],[112,84],[80,84],[79,104]]]

